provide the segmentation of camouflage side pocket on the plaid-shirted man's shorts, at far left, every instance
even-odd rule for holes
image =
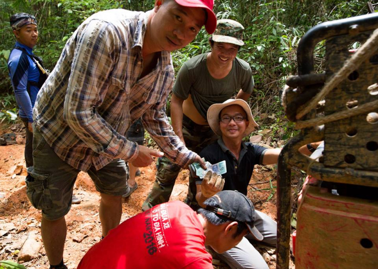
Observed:
[[[30,169],[26,176],[26,194],[36,209],[48,210],[52,207],[52,199],[48,188],[48,174],[36,173],[34,169]]]

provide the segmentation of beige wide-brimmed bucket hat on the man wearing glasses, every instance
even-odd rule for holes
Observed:
[[[245,102],[242,99],[228,99],[227,101],[224,101],[222,104],[211,105],[207,111],[207,121],[211,129],[214,131],[214,133],[216,133],[219,136],[222,135],[219,128],[219,113],[225,107],[232,106],[232,105],[238,105],[242,107],[242,109],[247,114],[249,125],[244,131],[244,134],[243,134],[244,137],[249,135],[251,132],[253,132],[257,127],[259,127],[254,117],[252,116],[252,112],[250,111],[250,107],[247,104],[247,102]]]

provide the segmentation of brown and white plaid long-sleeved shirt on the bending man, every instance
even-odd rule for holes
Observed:
[[[196,154],[174,134],[165,114],[174,70],[169,52],[140,78],[147,13],[99,12],[79,26],[42,86],[33,111],[35,127],[71,166],[100,169],[114,158],[136,159],[136,142],[125,138],[142,122],[165,155],[180,166]]]

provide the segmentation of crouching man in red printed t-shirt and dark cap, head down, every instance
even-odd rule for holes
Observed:
[[[196,213],[171,201],[124,221],[89,249],[78,269],[213,269],[205,245],[222,253],[248,232],[262,238],[254,206],[245,195],[222,191],[205,204]]]

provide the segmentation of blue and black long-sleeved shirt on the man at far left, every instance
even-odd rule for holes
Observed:
[[[19,42],[16,42],[16,46],[24,48],[29,54],[33,54],[33,49],[28,46]],[[13,49],[9,55],[8,69],[19,107],[19,116],[27,118],[29,122],[33,122],[33,107],[39,88],[30,85],[30,93],[28,93],[27,85],[28,81],[38,82],[38,66],[27,53],[19,49]]]

